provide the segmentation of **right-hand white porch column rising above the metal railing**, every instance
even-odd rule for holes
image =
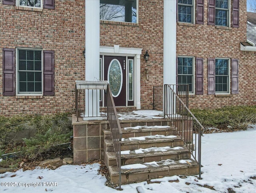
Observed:
[[[176,84],[176,1],[170,0],[164,0],[164,84]]]

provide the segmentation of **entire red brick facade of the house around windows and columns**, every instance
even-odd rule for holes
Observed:
[[[196,1],[195,1],[196,2]],[[231,3],[232,5],[232,3]],[[3,96],[1,114],[74,112],[75,80],[85,79],[85,1],[55,0],[55,9],[20,10],[0,1],[0,80],[3,48],[40,48],[54,51],[54,96]],[[138,1],[138,24],[100,22],[100,46],[141,48],[141,108],[152,108],[152,86],[163,82],[163,0]],[[246,0],[240,0],[239,28],[207,25],[208,0],[204,0],[204,24],[177,23],[177,56],[204,58],[204,94],[190,97],[192,108],[256,104],[256,53],[240,51],[246,41]],[[145,63],[143,54],[150,59]],[[207,58],[239,60],[239,94],[208,95]],[[148,67],[148,79],[144,69]],[[176,70],[176,69],[174,69]]]

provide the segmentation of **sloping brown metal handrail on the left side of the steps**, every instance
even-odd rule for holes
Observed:
[[[121,141],[122,141],[122,129],[119,123],[118,115],[116,112],[116,106],[110,90],[110,86],[107,86],[107,118],[110,127],[110,132],[113,140],[114,152],[116,154],[116,164],[119,171],[119,189],[121,189]]]

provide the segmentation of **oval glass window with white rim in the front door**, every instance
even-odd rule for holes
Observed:
[[[122,90],[123,73],[118,60],[113,59],[108,67],[108,82],[113,97],[118,97]]]

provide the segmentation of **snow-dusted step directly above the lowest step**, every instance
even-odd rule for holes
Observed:
[[[107,166],[116,165],[116,155],[114,152],[105,152],[105,156]],[[121,151],[121,165],[161,161],[165,159],[189,159],[190,157],[190,152],[185,146],[149,147],[146,149]]]

